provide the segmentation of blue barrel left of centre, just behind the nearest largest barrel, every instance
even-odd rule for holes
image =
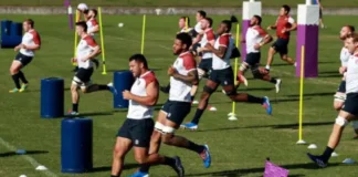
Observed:
[[[64,81],[59,77],[41,80],[41,117],[61,117],[64,113]]]

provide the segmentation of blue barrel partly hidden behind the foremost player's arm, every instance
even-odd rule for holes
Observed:
[[[117,71],[113,75],[113,84],[117,90],[117,95],[114,96],[113,106],[114,108],[128,108],[129,101],[124,100],[122,92],[125,90],[130,91],[134,83],[134,76],[130,71]]]

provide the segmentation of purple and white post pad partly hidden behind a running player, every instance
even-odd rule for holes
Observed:
[[[260,15],[261,17],[261,1],[243,1],[242,2],[242,37],[246,37],[246,31],[250,27],[250,21],[253,15]],[[239,45],[238,45],[239,48]],[[244,61],[246,59],[246,43],[241,43],[241,59]]]

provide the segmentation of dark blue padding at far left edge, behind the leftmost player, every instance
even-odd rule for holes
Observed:
[[[14,48],[22,41],[22,23],[1,21],[1,48]]]

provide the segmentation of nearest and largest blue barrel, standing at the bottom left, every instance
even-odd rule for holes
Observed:
[[[61,123],[61,171],[86,173],[93,167],[93,122],[65,118]]]

